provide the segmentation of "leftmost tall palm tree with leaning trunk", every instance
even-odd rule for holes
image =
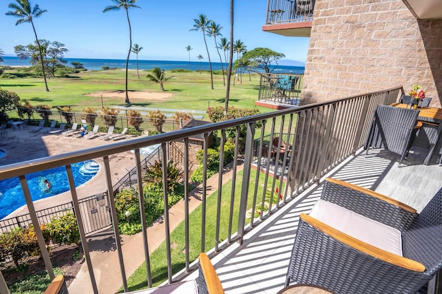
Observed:
[[[10,3],[8,5],[8,7],[10,9],[13,9],[14,11],[6,12],[6,15],[10,15],[12,17],[19,17],[19,20],[15,23],[15,25],[19,25],[21,23],[30,23],[32,25],[32,30],[34,30],[35,34],[35,41],[39,46],[40,62],[41,62],[41,69],[43,70],[44,85],[46,86],[46,92],[49,92],[48,82],[46,81],[46,72],[44,71],[43,52],[41,52],[39,38],[37,37],[37,31],[35,30],[34,21],[33,21],[34,18],[39,17],[41,14],[44,14],[44,12],[47,12],[48,10],[41,10],[38,4],[35,4],[35,6],[31,8],[28,0],[16,0],[16,1],[17,4]]]

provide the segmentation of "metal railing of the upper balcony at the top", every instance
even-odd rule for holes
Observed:
[[[266,25],[311,21],[315,0],[269,0]]]

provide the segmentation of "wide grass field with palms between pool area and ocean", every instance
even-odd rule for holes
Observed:
[[[10,72],[6,70],[5,72]],[[129,71],[128,90],[160,92],[157,83],[148,81],[147,72]],[[86,94],[124,90],[124,70],[90,71],[73,74],[69,78],[50,78],[48,87],[50,92],[44,90],[43,78],[0,78],[0,87],[16,92],[21,100],[28,100],[32,105],[44,104],[52,107],[70,105],[73,112],[81,112],[85,107],[101,108],[100,97],[86,96]],[[211,90],[209,72],[166,72],[166,76],[173,76],[164,83],[166,93],[172,93],[166,101],[149,101],[143,98],[131,99],[131,105],[137,107],[152,107],[155,109],[180,109],[205,111],[208,105],[224,106],[226,87],[222,82],[221,74],[214,74],[214,90]],[[231,83],[229,106],[241,108],[256,107],[254,102],[258,99],[259,76],[256,74],[244,75],[242,84],[236,81]],[[130,96],[130,95],[129,95]],[[103,97],[105,107],[122,106],[124,98]],[[258,107],[261,112],[269,109]]]

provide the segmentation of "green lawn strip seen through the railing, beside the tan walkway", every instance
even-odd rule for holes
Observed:
[[[260,173],[258,182],[258,203],[262,197],[262,191],[264,189],[265,174]],[[267,190],[271,189],[271,181],[273,178],[269,177],[267,184]],[[247,208],[250,209],[253,202],[253,187],[256,183],[256,170],[251,170],[250,176],[250,189],[247,199]],[[221,216],[220,216],[220,242],[227,239],[229,231],[229,211],[231,200],[231,185],[232,181],[229,180],[222,186],[221,197]],[[279,185],[279,180],[276,180],[276,187]],[[240,207],[240,193],[242,187],[242,171],[238,172],[236,178],[235,187],[235,200],[233,204],[233,231],[234,233],[238,229],[238,213]],[[284,187],[284,186],[283,186]],[[283,188],[284,189],[284,188]],[[206,200],[206,240],[205,251],[211,250],[215,246],[215,228],[216,228],[216,206],[218,202],[218,191],[215,191]],[[191,260],[196,260],[201,252],[201,212],[202,206],[200,205],[189,216],[189,252]],[[250,219],[247,219],[247,223]],[[185,241],[184,241],[184,221],[181,222],[178,227],[171,233],[171,243],[174,244],[174,248],[171,249],[173,273],[184,269],[185,267]],[[153,286],[157,286],[167,280],[167,255],[166,255],[166,243],[163,242],[152,254],[151,254],[151,272]],[[143,264],[128,278],[129,291],[138,291],[142,288],[146,288],[147,276],[146,276],[146,263]],[[122,289],[120,289],[122,291]]]

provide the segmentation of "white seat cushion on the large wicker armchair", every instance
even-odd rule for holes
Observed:
[[[402,255],[401,231],[332,202],[318,200],[310,216],[379,249]]]

